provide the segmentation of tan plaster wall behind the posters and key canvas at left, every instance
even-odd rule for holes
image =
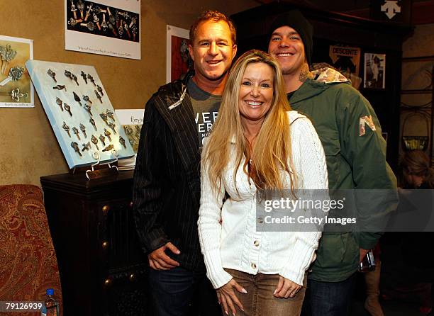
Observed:
[[[35,60],[90,64],[114,108],[143,108],[165,84],[166,25],[189,28],[204,9],[228,15],[257,6],[254,0],[142,0],[142,60],[65,50],[62,0],[0,0],[0,34],[33,39]],[[0,108],[0,184],[40,185],[40,176],[68,167],[40,100],[35,108]]]

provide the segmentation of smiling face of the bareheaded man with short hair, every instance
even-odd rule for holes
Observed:
[[[199,77],[199,81],[222,79],[237,52],[228,23],[208,20],[199,24],[195,34],[194,43],[189,45],[195,77]]]

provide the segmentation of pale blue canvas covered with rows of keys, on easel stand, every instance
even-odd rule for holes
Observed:
[[[70,169],[94,164],[95,153],[101,163],[133,157],[94,67],[39,60],[29,60],[26,67]],[[8,93],[24,97],[21,91]]]

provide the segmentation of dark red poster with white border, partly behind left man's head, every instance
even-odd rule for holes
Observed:
[[[189,55],[189,30],[167,26],[166,36],[166,82],[179,79],[191,67]]]

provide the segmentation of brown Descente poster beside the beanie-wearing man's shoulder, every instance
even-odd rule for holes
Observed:
[[[359,89],[362,83],[362,78],[359,77],[360,47],[330,45],[328,55],[333,62],[333,66],[347,79],[351,80],[351,84],[355,89]]]

